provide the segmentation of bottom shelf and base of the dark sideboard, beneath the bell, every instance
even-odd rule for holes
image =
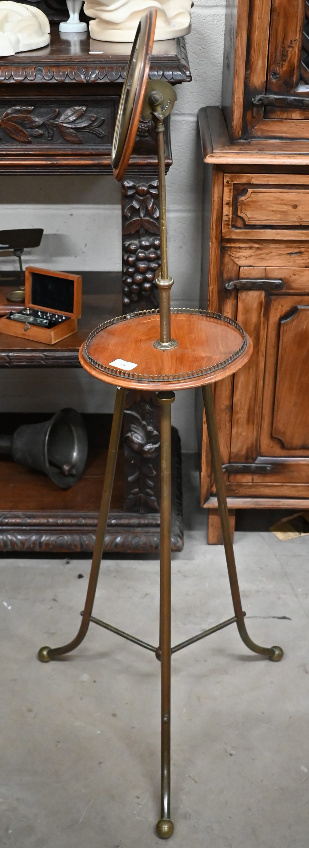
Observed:
[[[0,432],[20,424],[47,421],[46,415],[0,417]],[[72,488],[58,488],[49,477],[0,456],[0,550],[91,551],[108,454],[110,415],[83,416],[89,440],[86,469]],[[173,428],[174,429],[174,428]],[[180,441],[173,432],[173,550],[183,546]],[[124,512],[124,449],[119,449],[104,550],[149,553],[159,549],[158,513]]]

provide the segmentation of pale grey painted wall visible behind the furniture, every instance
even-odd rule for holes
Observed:
[[[172,115],[174,165],[167,178],[169,271],[174,305],[198,306],[201,266],[201,152],[196,113],[221,102],[224,0],[195,0],[186,43],[192,82],[178,86]],[[121,269],[119,185],[112,177],[1,178],[0,229],[42,226],[41,248],[25,263],[59,270]],[[1,270],[12,267],[0,259]],[[113,392],[83,371],[2,371],[3,410],[112,410]],[[196,450],[194,398],[178,394],[173,421],[182,446]]]

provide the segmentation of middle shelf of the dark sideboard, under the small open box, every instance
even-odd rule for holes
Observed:
[[[8,275],[5,273],[5,276]],[[0,333],[0,368],[74,368],[80,365],[80,345],[91,330],[102,321],[122,314],[120,271],[87,271],[82,277],[82,312],[77,332],[52,345],[27,341],[26,336],[17,338]],[[0,294],[12,291],[16,285],[13,282],[12,286],[8,286],[5,282],[5,287],[2,287],[0,279]]]

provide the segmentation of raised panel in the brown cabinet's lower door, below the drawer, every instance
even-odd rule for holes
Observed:
[[[273,437],[287,450],[309,450],[308,362],[309,304],[302,304],[279,321]]]

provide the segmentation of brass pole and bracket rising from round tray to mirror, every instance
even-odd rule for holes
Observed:
[[[159,290],[160,338],[155,348],[169,350],[178,342],[171,338],[171,288],[174,280],[168,276],[168,240],[165,187],[164,119],[171,113],[177,99],[174,87],[164,80],[149,81],[143,103],[142,120],[152,120],[157,134],[157,169],[159,195],[159,225],[161,243],[161,269],[157,275]]]

